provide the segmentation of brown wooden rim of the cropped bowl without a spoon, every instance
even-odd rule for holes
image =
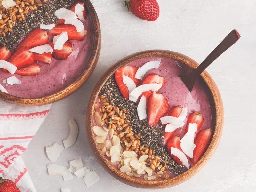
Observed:
[[[93,42],[93,48],[92,48],[92,54],[90,56],[90,59],[87,63],[87,65],[84,68],[84,71],[80,74],[80,76],[74,81],[72,84],[68,85],[64,89],[53,93],[48,96],[40,97],[40,98],[21,98],[16,97],[10,94],[7,94],[5,92],[0,91],[0,98],[20,104],[20,105],[45,105],[49,103],[56,102],[58,100],[64,99],[68,95],[75,92],[79,87],[81,87],[84,82],[91,76],[94,68],[96,67],[96,64],[98,62],[99,56],[100,56],[100,47],[101,47],[101,34],[100,34],[100,23],[97,16],[97,13],[94,10],[94,7],[92,6],[92,3],[90,0],[83,0],[85,2],[85,8],[88,14],[90,14],[92,18],[92,24],[93,24],[93,30],[94,30],[94,42]]]

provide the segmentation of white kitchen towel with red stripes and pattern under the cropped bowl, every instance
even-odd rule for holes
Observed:
[[[51,105],[20,106],[0,99],[0,176],[22,192],[36,189],[20,156],[47,116]]]

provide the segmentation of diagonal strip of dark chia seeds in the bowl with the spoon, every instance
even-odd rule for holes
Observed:
[[[123,98],[114,78],[114,75],[110,76],[107,82],[100,90],[101,95],[106,95],[109,100],[113,100],[113,105],[118,106],[120,109],[126,109],[127,119],[131,122],[131,127],[134,133],[141,135],[141,143],[146,144],[149,148],[155,151],[156,156],[160,156],[164,164],[168,161],[168,168],[170,172],[175,175],[181,174],[187,170],[183,165],[176,163],[173,158],[168,154],[166,146],[163,144],[164,134],[163,125],[158,124],[155,126],[149,126],[148,120],[141,120],[137,113],[137,104]]]

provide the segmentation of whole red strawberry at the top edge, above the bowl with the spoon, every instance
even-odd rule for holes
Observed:
[[[155,21],[159,16],[159,5],[156,0],[125,0],[125,6],[133,15],[147,21]]]

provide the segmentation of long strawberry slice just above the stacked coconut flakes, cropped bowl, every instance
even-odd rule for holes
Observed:
[[[51,35],[60,35],[63,31],[67,31],[69,40],[80,40],[82,41],[87,33],[84,29],[81,32],[76,31],[76,27],[71,24],[60,24],[56,25],[53,29],[49,30]]]

